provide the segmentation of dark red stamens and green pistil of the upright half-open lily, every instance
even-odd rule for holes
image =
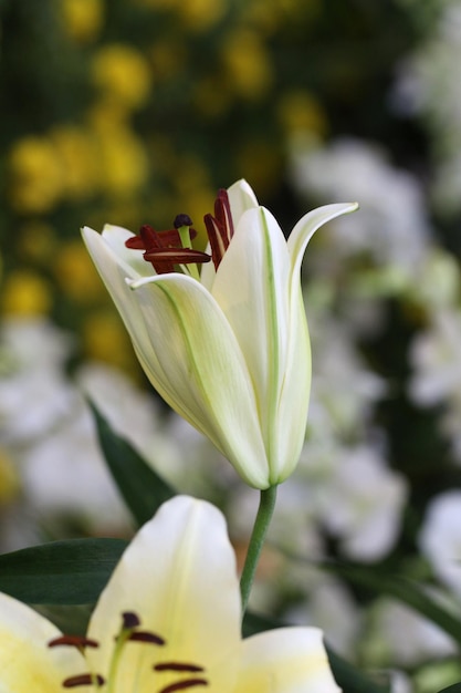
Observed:
[[[142,226],[139,236],[132,236],[125,245],[127,248],[144,250],[144,259],[151,263],[157,275],[174,272],[179,266],[186,273],[200,279],[197,265],[212,260],[214,269],[218,269],[233,236],[227,190],[219,190],[214,201],[214,216],[205,215],[203,223],[211,256],[191,247],[197,231],[192,228],[192,219],[186,214],[179,214],[174,221],[175,228],[167,231],[156,231],[151,226]]]

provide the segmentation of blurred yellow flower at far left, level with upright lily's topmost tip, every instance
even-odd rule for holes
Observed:
[[[10,151],[10,199],[22,214],[44,214],[63,193],[62,165],[53,144],[44,137],[19,139]]]

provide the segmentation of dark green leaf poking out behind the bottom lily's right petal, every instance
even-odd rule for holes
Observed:
[[[286,623],[280,623],[274,619],[270,619],[265,616],[262,617],[260,614],[247,611],[243,619],[243,637],[249,638],[250,635],[254,635],[255,633],[261,633],[263,631],[272,630],[274,628],[281,628],[284,625],[286,625]],[[332,650],[329,645],[326,645],[326,652],[328,654],[329,665],[332,668],[335,681],[338,686],[343,689],[343,693],[389,692],[389,682],[388,680],[384,681],[381,675],[379,675],[379,680],[377,680],[375,675],[370,676],[369,674],[362,673],[353,664],[349,664],[346,660],[336,654],[336,652],[334,652],[334,650]],[[461,692],[453,691],[453,693]]]

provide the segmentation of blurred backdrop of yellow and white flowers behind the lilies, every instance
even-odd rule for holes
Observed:
[[[0,0],[0,548],[129,536],[85,396],[244,546],[255,507],[146,383],[82,245],[201,219],[244,177],[304,262],[310,424],[253,606],[397,691],[461,678],[438,628],[306,559],[417,579],[461,618],[460,0]]]

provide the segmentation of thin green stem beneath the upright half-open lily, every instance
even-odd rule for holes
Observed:
[[[270,486],[269,488],[261,492],[260,506],[258,508],[256,519],[254,520],[253,531],[251,532],[242,576],[240,578],[240,593],[242,596],[242,617],[247,610],[251,587],[253,585],[254,575],[256,572],[258,561],[260,559],[264,538],[274,511],[275,499],[276,486]]]

